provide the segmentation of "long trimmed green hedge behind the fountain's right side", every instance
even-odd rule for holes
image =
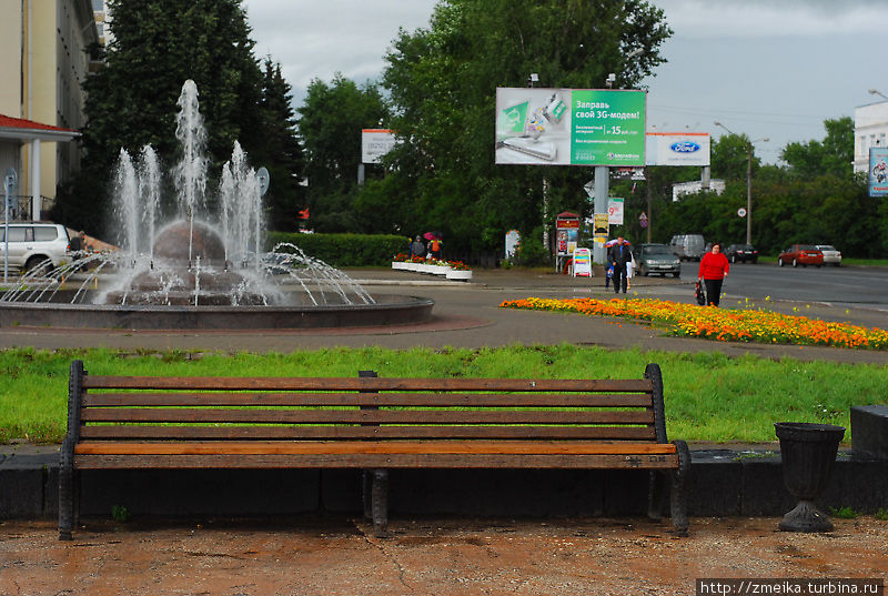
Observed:
[[[406,253],[410,239],[391,234],[300,234],[297,232],[270,232],[266,249],[289,243],[299,246],[306,255],[337,267],[385,266],[392,256]],[[282,246],[281,252],[292,252]]]

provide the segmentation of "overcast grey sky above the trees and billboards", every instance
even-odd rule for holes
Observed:
[[[256,54],[280,62],[302,103],[312,79],[377,79],[398,27],[427,27],[435,0],[248,0]],[[653,0],[675,34],[644,84],[648,130],[720,137],[719,121],[776,162],[821,140],[827,118],[888,95],[886,0]],[[602,85],[604,87],[604,81]]]

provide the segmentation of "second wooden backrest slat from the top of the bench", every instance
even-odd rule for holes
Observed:
[[[650,407],[649,394],[551,393],[90,393],[84,407],[117,406],[466,406]]]

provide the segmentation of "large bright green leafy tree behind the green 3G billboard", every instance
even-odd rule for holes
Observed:
[[[636,87],[664,59],[672,31],[642,0],[453,0],[428,29],[400,31],[383,85],[402,140],[390,154],[393,192],[374,189],[375,209],[401,212],[406,233],[442,230],[448,249],[492,250],[505,230],[528,234],[566,209],[588,211],[589,171],[493,163],[497,87]],[[624,57],[632,50],[643,53]],[[543,213],[546,188],[548,209]]]

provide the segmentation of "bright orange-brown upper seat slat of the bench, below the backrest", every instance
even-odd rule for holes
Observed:
[[[193,441],[189,443],[82,442],[75,455],[667,455],[672,443],[622,444],[603,441]]]

